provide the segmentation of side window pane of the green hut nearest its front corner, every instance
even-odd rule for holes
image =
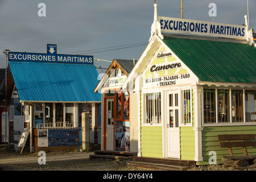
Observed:
[[[216,122],[215,89],[204,89],[204,123]]]

